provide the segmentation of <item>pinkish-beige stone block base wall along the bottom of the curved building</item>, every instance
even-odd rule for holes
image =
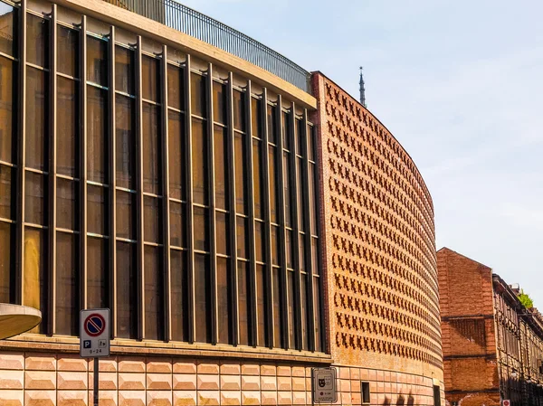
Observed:
[[[433,405],[433,381],[413,374],[338,366],[338,403]],[[100,360],[100,406],[311,404],[311,368],[117,355]],[[0,406],[92,405],[93,364],[78,354],[0,353]],[[443,383],[441,384],[442,400]]]

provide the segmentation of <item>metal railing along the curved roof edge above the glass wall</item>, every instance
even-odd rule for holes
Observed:
[[[310,72],[251,37],[176,0],[104,0],[207,42],[310,93]]]

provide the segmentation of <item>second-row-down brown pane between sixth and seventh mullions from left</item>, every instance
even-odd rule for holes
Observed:
[[[185,120],[182,114],[168,111],[169,183],[171,197],[186,200]]]

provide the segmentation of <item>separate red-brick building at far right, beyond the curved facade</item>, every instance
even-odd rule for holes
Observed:
[[[446,401],[462,406],[540,404],[542,318],[492,269],[437,252]]]

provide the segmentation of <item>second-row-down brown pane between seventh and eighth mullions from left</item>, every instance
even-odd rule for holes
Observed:
[[[207,204],[207,134],[205,122],[197,118],[192,120],[193,149],[193,198],[195,203]]]

